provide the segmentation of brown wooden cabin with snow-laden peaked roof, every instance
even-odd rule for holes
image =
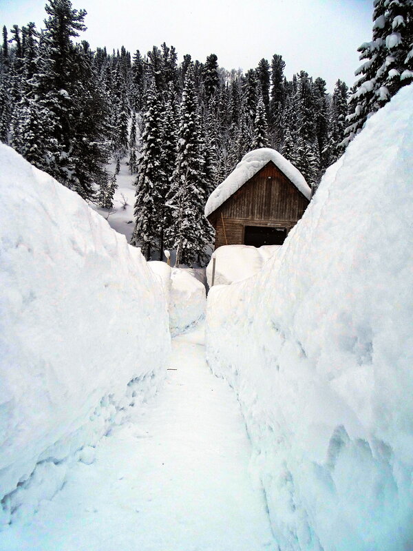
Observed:
[[[298,169],[274,149],[248,153],[207,202],[205,215],[215,228],[215,249],[282,245],[303,216],[310,194]]]

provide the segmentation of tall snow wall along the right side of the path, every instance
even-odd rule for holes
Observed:
[[[213,287],[282,551],[413,549],[413,87],[330,167],[281,253]]]

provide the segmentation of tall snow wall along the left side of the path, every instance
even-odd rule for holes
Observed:
[[[0,145],[0,526],[156,392],[170,337],[140,251]]]

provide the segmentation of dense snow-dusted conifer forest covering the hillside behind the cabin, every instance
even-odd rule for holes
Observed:
[[[242,72],[219,67],[215,54],[178,63],[166,43],[147,54],[92,51],[74,42],[85,10],[49,0],[45,28],[3,28],[0,139],[108,209],[116,175],[107,163],[127,156],[136,174],[132,244],[147,258],[168,247],[178,262],[202,261],[212,231],[204,204],[246,152],[274,147],[316,189],[368,116],[412,81],[412,1],[375,2],[348,103],[341,80],[328,94],[305,71],[286,79],[279,54]]]

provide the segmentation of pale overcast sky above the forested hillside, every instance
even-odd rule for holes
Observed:
[[[147,52],[152,45],[174,45],[204,61],[218,55],[231,70],[256,67],[282,54],[286,76],[306,70],[335,81],[354,83],[357,48],[372,34],[372,0],[72,0],[85,8],[92,48]],[[45,0],[0,0],[0,23],[10,28],[34,21],[41,27]]]

